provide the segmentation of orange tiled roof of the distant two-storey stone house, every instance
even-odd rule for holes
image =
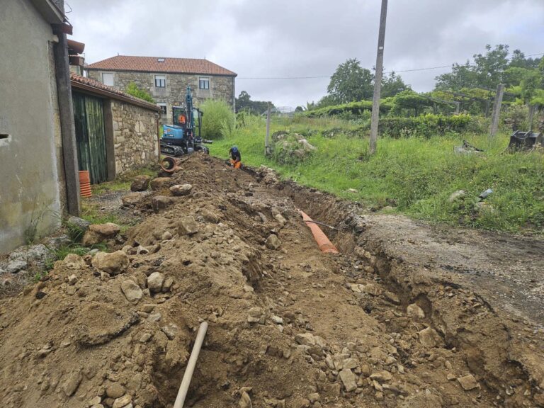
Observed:
[[[159,62],[159,60],[164,60]],[[89,64],[89,69],[106,69],[111,71],[137,72],[170,72],[174,74],[208,74],[236,77],[235,72],[220,67],[208,60],[196,58],[169,58],[169,57],[129,57],[118,55]]]

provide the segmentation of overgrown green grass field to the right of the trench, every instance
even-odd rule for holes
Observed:
[[[265,122],[246,119],[233,137],[217,140],[211,154],[226,158],[237,145],[242,162],[265,164],[284,178],[357,200],[370,210],[386,206],[411,217],[448,225],[508,232],[543,233],[544,161],[538,152],[508,154],[506,134],[446,135],[378,140],[378,153],[368,154],[368,138],[355,137],[358,125],[329,118],[282,118],[271,133],[290,130],[305,135],[317,152],[297,164],[278,164],[264,156]],[[330,137],[331,130],[334,136]],[[485,150],[482,154],[455,154],[463,139]],[[351,193],[350,188],[356,193]],[[475,210],[482,191],[492,188],[490,205]],[[464,190],[460,203],[449,203],[451,193]],[[387,211],[391,212],[390,209]]]

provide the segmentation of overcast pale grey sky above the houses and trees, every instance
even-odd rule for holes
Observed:
[[[72,38],[87,63],[113,55],[206,58],[237,72],[237,95],[276,106],[327,93],[328,78],[356,57],[372,68],[380,0],[66,0]],[[544,52],[544,0],[390,0],[386,71],[463,63],[485,45]],[[415,91],[448,68],[402,72]]]

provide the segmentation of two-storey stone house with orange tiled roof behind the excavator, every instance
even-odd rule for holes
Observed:
[[[118,55],[85,67],[88,77],[125,91],[135,83],[162,109],[162,123],[171,123],[172,106],[185,102],[187,86],[198,107],[205,99],[222,99],[234,110],[237,74],[208,60]]]

